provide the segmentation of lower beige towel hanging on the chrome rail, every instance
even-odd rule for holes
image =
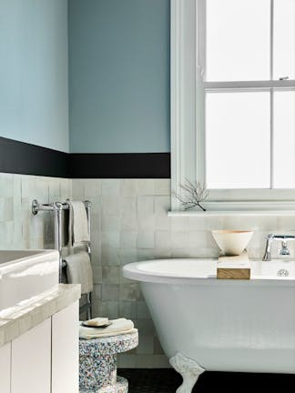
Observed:
[[[93,273],[90,257],[86,251],[69,255],[66,260],[66,277],[69,284],[81,284],[81,293],[93,290]]]

